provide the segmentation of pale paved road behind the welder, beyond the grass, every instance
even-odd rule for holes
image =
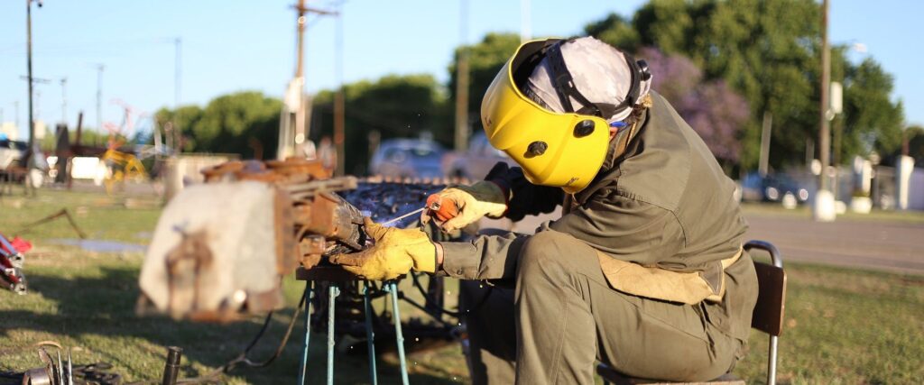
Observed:
[[[550,214],[514,223],[513,230],[530,234]],[[746,213],[750,229],[745,239],[771,242],[784,261],[924,275],[924,223],[839,218],[816,223],[794,213]],[[509,229],[509,223],[490,221],[484,227]]]

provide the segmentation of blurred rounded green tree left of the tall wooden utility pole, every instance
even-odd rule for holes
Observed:
[[[183,150],[237,153],[244,157],[262,154],[272,158],[279,135],[282,102],[257,91],[219,96],[201,109],[190,105],[176,111],[162,108],[154,116],[164,127],[174,122],[182,132]]]

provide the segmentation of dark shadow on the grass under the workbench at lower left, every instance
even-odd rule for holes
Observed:
[[[130,380],[159,379],[163,370],[166,346],[184,349],[181,377],[201,376],[214,367],[236,357],[260,330],[262,318],[229,324],[204,324],[175,321],[164,317],[138,317],[134,313],[139,294],[138,270],[130,267],[102,267],[102,275],[67,279],[54,271],[30,272],[29,296],[41,295],[53,302],[54,311],[40,312],[0,309],[0,336],[12,338],[20,331],[53,334],[63,344],[71,342],[96,354],[93,359],[109,361],[116,371]],[[5,293],[4,295],[11,295]],[[23,298],[23,297],[19,297]],[[6,298],[0,298],[6,300]],[[40,302],[33,299],[30,303]],[[273,355],[291,319],[292,309],[277,313],[269,330],[251,351],[251,360],[261,361]],[[47,339],[46,337],[40,337]],[[21,338],[20,338],[21,339]],[[265,368],[237,367],[230,376],[249,383],[295,381],[298,376],[304,341],[304,313],[299,316],[283,354]],[[28,342],[34,343],[34,342]],[[377,345],[388,343],[378,342]],[[26,344],[23,342],[22,344]],[[308,383],[326,379],[326,336],[311,335]],[[75,359],[78,363],[84,360]],[[377,360],[379,379],[383,383],[400,382],[396,360]],[[337,383],[369,383],[366,355],[337,355]],[[197,364],[197,365],[193,365]],[[410,365],[410,364],[408,364]],[[204,366],[204,367],[203,367]],[[26,369],[18,367],[16,369]],[[435,373],[412,374],[414,383],[454,383]],[[446,374],[447,375],[447,374]],[[447,375],[448,376],[448,375]],[[224,383],[227,378],[223,379]]]

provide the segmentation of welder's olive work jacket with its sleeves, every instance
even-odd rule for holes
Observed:
[[[741,252],[748,229],[734,199],[735,183],[670,103],[654,92],[651,97],[653,104],[626,150],[614,153],[611,143],[601,172],[577,194],[565,196],[558,187],[531,185],[521,169],[508,169],[503,163],[487,179],[509,192],[505,216],[514,221],[552,212],[565,202],[565,214],[537,231],[551,229],[586,242],[604,256],[602,264],[612,258],[649,269],[699,274],[723,295],[721,302],[695,305],[705,313],[703,318],[747,341],[757,276],[747,253],[727,269],[722,264]],[[519,249],[527,239],[481,235],[470,242],[442,243],[443,270],[462,279],[513,278]],[[719,293],[720,287],[724,293]]]

